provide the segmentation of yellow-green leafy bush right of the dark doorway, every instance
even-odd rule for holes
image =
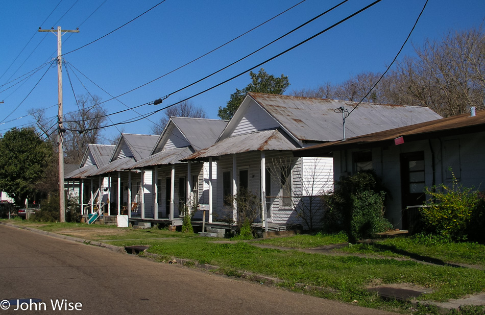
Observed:
[[[464,187],[458,183],[452,173],[451,186],[441,184],[431,188],[425,187],[425,193],[430,198],[425,202],[428,207],[421,208],[421,216],[426,231],[437,233],[453,241],[466,240],[471,230],[482,229],[483,226],[474,228],[474,220],[483,219],[483,207],[479,206],[479,192],[473,187]],[[481,211],[481,213],[480,213]],[[480,231],[481,232],[481,231]]]

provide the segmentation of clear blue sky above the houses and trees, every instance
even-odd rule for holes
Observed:
[[[43,67],[30,77],[23,76],[57,54],[56,37],[51,33],[37,32],[39,27],[57,29],[57,26],[61,26],[68,30],[79,27],[80,33],[63,36],[62,51],[67,53],[108,34],[160,1],[3,0],[0,13],[0,27],[3,30],[0,45],[0,101],[5,103],[0,104],[0,120],[19,104],[20,106],[0,125],[0,132],[5,133],[12,127],[31,124],[32,116],[27,115],[31,108],[48,107],[47,116],[57,114],[57,69]],[[95,84],[116,96],[211,51],[300,1],[166,0],[125,27],[67,54],[64,58]],[[118,100],[134,107],[161,98],[259,49],[339,2],[306,0],[222,49],[120,96]],[[152,112],[229,79],[324,30],[371,2],[350,0],[255,55],[169,96],[161,105],[142,106],[136,111],[140,114]],[[288,76],[291,84],[288,91],[315,87],[324,82],[339,83],[362,71],[383,71],[398,52],[424,3],[425,0],[383,0],[262,67],[269,74]],[[421,46],[426,38],[439,39],[450,30],[479,27],[484,17],[483,0],[429,0],[411,36],[411,42],[408,42],[401,57],[413,54],[413,45]],[[43,22],[44,20],[46,21]],[[254,71],[257,70],[258,68]],[[87,89],[89,93],[99,95],[103,101],[111,99],[111,96],[76,70],[70,70],[69,74],[76,95],[86,94]],[[23,76],[21,79],[28,79],[8,83],[20,76]],[[245,74],[196,96],[192,101],[203,107],[209,118],[217,118],[219,106],[225,106],[235,88],[245,87],[249,80],[249,74]],[[12,86],[17,82],[19,83]],[[64,113],[76,110],[74,93],[65,71],[63,85]],[[5,90],[6,88],[9,89]],[[126,109],[120,102],[112,100],[103,106],[108,113]],[[161,115],[160,112],[149,119],[158,121]],[[113,123],[118,123],[136,116],[137,113],[128,111],[110,118]],[[9,122],[12,119],[15,120]],[[52,124],[54,123],[53,120]],[[110,121],[107,123],[111,124]],[[149,133],[151,125],[152,122],[143,119],[118,128],[125,128],[125,132],[129,133]],[[104,137],[112,138],[117,134],[115,127],[103,131]]]

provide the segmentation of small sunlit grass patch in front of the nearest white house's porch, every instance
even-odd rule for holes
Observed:
[[[268,239],[261,239],[255,241],[258,244],[289,247],[289,248],[299,248],[308,249],[316,248],[332,244],[347,243],[348,238],[344,233],[339,234],[321,234],[317,233],[314,235],[309,234],[298,234],[288,237],[275,237]]]

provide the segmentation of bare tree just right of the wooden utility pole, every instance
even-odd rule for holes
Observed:
[[[105,125],[105,111],[99,104],[99,96],[81,95],[79,110],[66,114],[64,128],[64,150],[66,163],[80,163],[89,143],[99,143],[101,128]]]

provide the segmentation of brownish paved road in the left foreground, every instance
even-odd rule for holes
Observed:
[[[0,278],[0,300],[41,299],[45,314],[386,313],[5,225],[0,225]],[[81,303],[81,311],[54,311],[51,300]],[[15,308],[0,309],[0,315],[39,313]]]

